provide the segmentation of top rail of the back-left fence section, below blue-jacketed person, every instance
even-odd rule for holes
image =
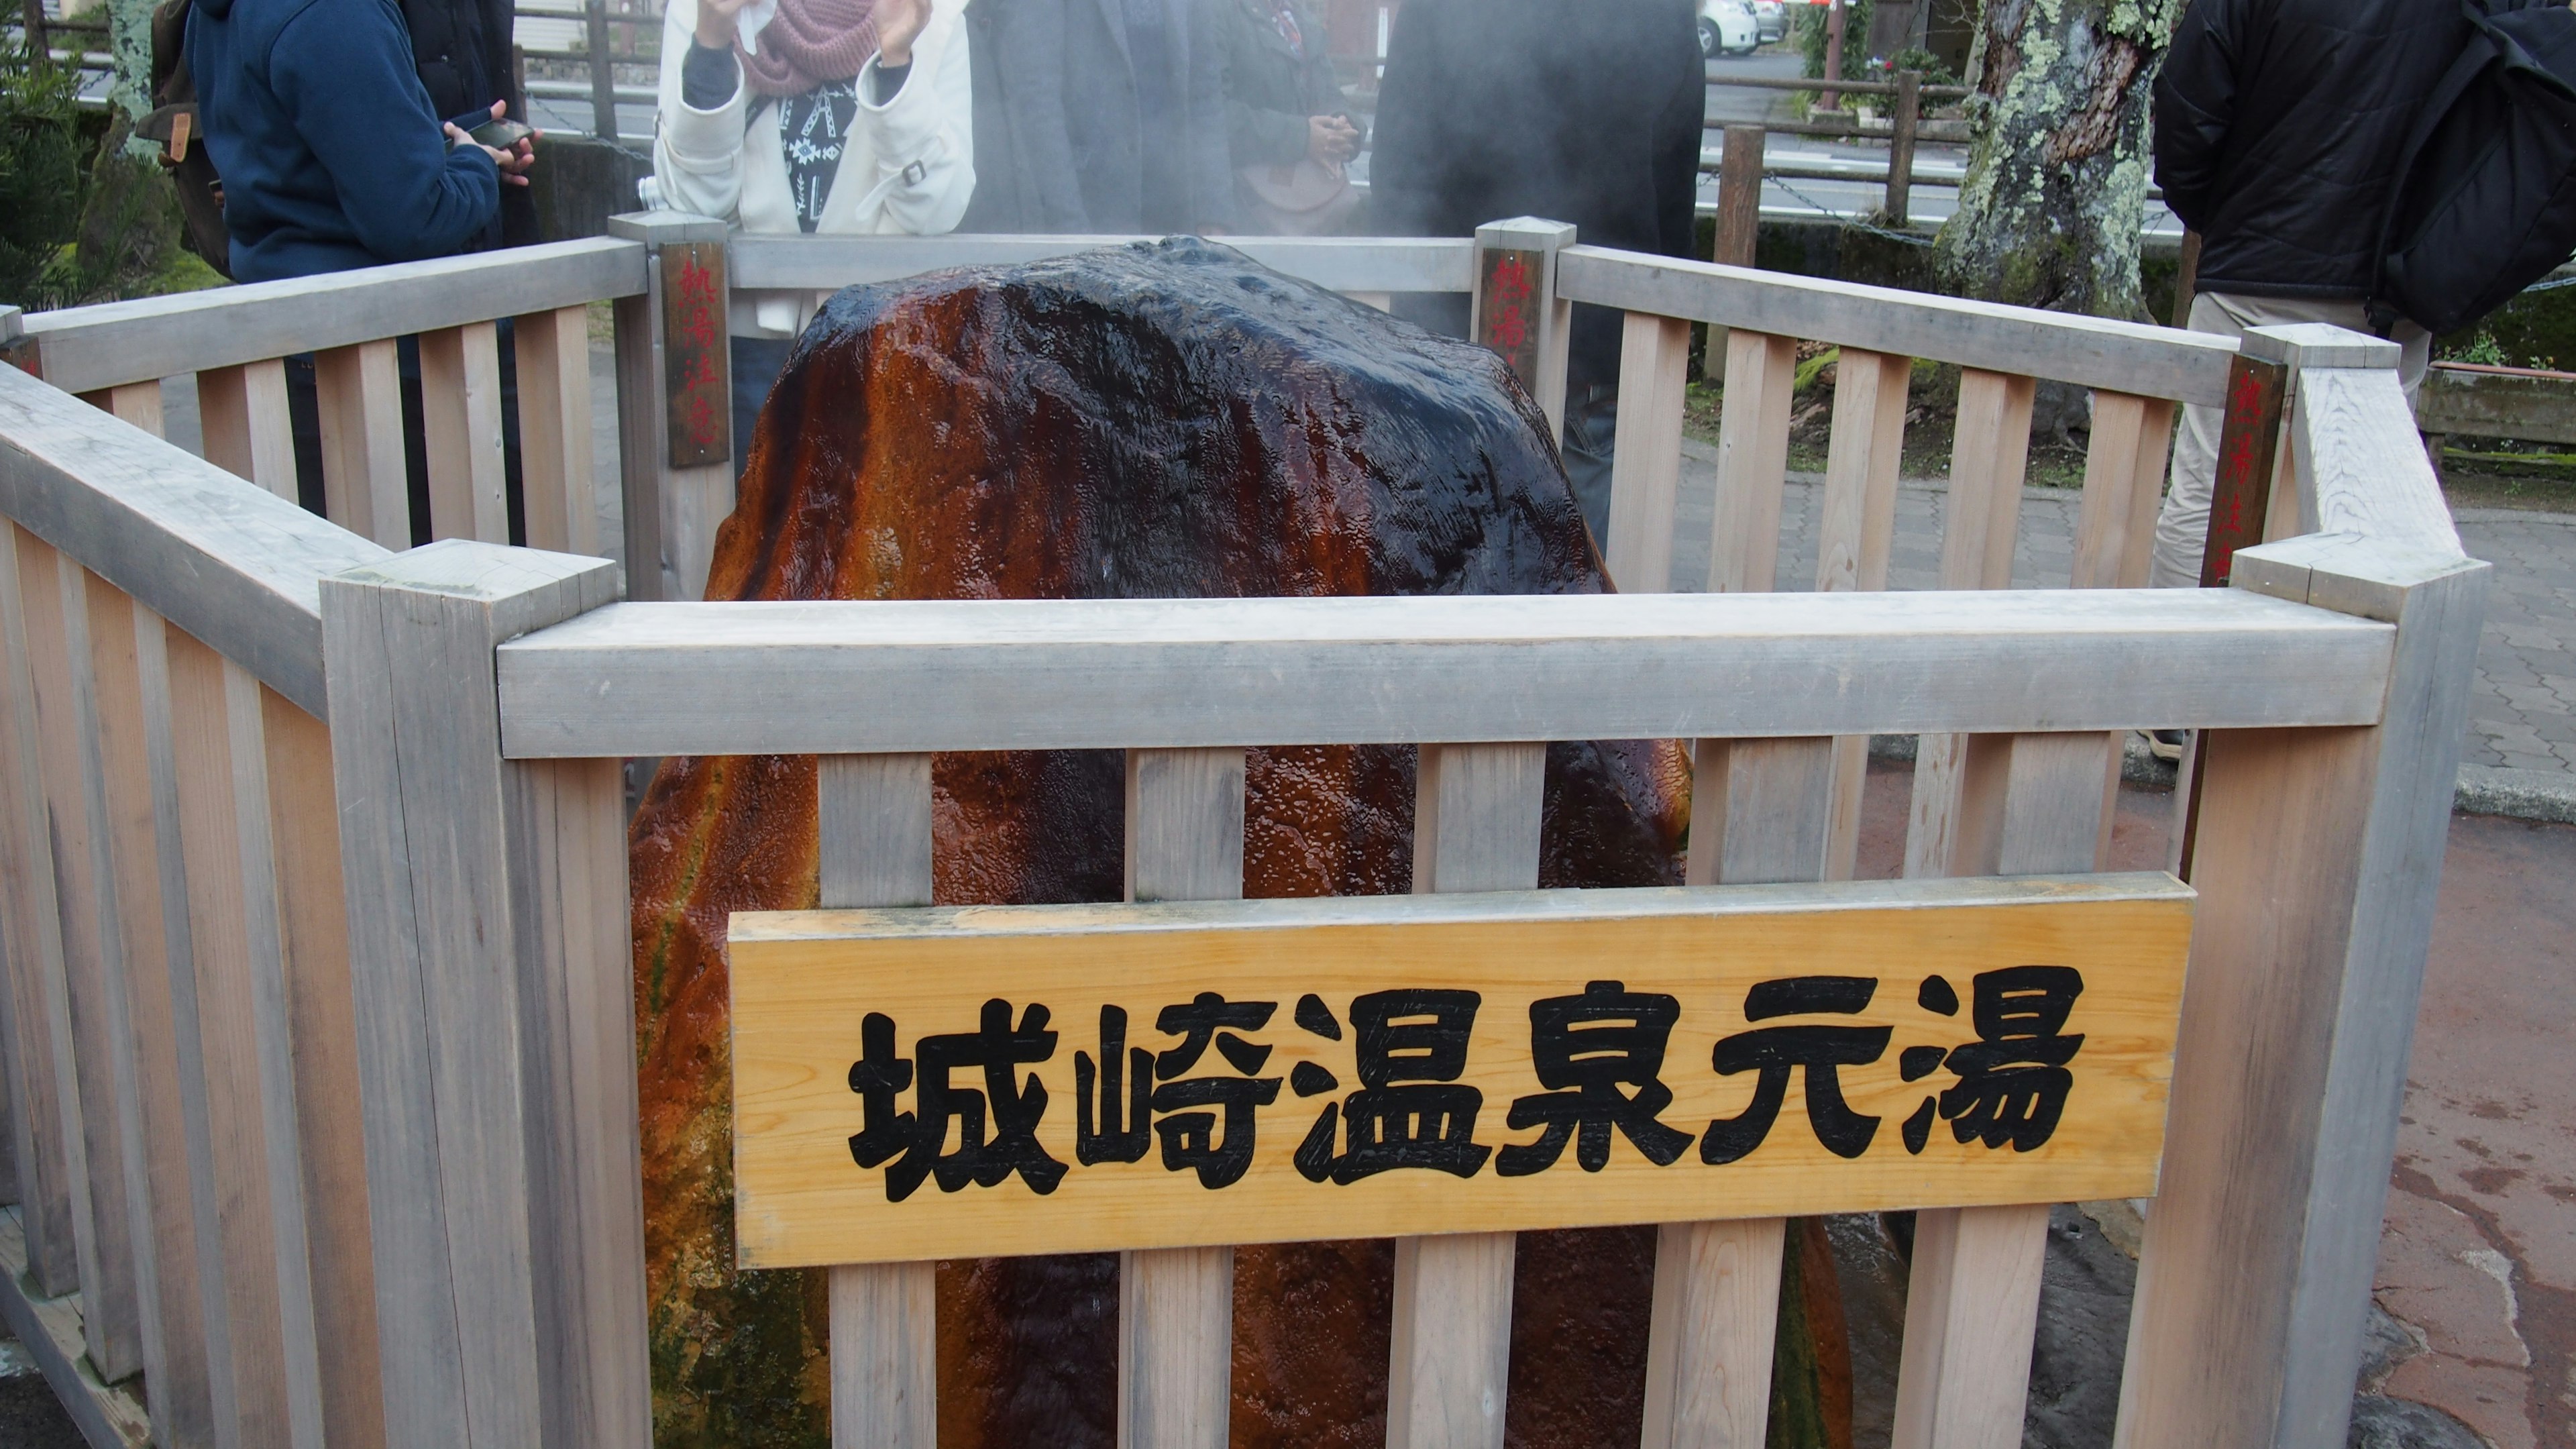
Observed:
[[[644,291],[644,248],[611,237],[67,307],[26,320],[64,392],[343,348]]]

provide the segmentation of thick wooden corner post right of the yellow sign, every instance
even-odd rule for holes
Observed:
[[[2378,730],[2202,745],[2202,920],[2123,1449],[2344,1436],[2491,575],[2298,539],[2236,578],[2398,619],[2398,673]]]

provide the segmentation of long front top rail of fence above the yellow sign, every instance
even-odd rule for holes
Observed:
[[[2244,590],[618,603],[513,758],[2367,724],[2385,624]]]

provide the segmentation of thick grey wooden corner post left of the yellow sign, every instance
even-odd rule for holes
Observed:
[[[492,673],[613,596],[471,541],[322,580],[392,1449],[647,1436],[616,761],[502,761]]]

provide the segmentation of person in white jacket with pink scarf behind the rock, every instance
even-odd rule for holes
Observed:
[[[662,204],[765,235],[940,235],[974,196],[969,0],[670,0]],[[737,454],[822,294],[734,291]]]

